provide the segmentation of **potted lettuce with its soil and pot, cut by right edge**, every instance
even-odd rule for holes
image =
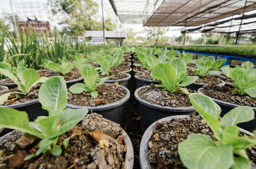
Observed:
[[[198,89],[198,92],[211,97],[221,107],[221,116],[225,115],[232,108],[239,105],[248,105],[256,111],[256,75],[255,69],[247,73],[244,68],[237,67],[230,70],[230,77],[234,80],[234,85],[230,86],[208,86]],[[256,128],[256,119],[239,124],[239,127],[248,131]]]

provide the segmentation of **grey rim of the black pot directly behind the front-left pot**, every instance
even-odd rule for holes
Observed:
[[[107,85],[109,85],[109,84],[107,84]],[[126,95],[125,95],[124,98],[122,98],[119,101],[116,101],[114,103],[109,103],[109,104],[106,104],[106,105],[98,105],[98,106],[95,106],[95,107],[78,106],[78,105],[72,105],[70,103],[67,103],[66,106],[67,106],[67,108],[73,108],[73,109],[87,108],[89,111],[100,111],[100,110],[106,110],[106,109],[110,109],[110,108],[119,107],[120,105],[123,105],[124,103],[126,103],[129,100],[130,95],[131,95],[130,91],[126,87],[124,87],[122,85],[120,85],[119,87],[122,87],[123,89],[125,89]]]

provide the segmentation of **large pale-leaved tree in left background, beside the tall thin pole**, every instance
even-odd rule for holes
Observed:
[[[82,36],[86,30],[102,30],[102,22],[96,20],[99,5],[92,0],[48,0],[48,4],[52,7],[52,14],[65,17],[59,23],[64,25],[63,33]],[[104,24],[105,30],[115,29],[110,18]]]

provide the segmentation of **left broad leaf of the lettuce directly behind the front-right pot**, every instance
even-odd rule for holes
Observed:
[[[152,71],[152,76],[155,79],[161,80],[163,87],[170,92],[175,91],[178,87],[176,84],[176,75],[173,66],[166,63],[158,64]]]

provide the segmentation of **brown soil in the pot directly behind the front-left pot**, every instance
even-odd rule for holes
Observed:
[[[115,84],[100,85],[97,87],[97,92],[98,97],[94,99],[90,95],[90,92],[72,94],[72,92],[68,91],[68,103],[78,106],[95,106],[95,101],[99,101],[96,105],[106,105],[119,101],[126,95],[125,89],[122,87],[116,87]]]

